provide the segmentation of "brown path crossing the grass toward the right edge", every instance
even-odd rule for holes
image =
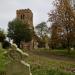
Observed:
[[[45,52],[45,51],[35,51],[35,50],[32,50],[29,53],[32,53],[34,55],[39,55],[39,56],[47,57],[49,59],[54,59],[54,60],[75,62],[75,58],[72,58],[70,56],[67,57],[67,56],[64,56],[64,55],[53,55],[53,54],[51,54],[49,52]]]

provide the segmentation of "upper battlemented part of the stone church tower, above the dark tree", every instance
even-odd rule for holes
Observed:
[[[16,10],[16,18],[21,20],[24,24],[29,24],[29,28],[33,28],[33,13],[30,9]]]

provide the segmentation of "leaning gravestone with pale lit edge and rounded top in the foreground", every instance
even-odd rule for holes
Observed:
[[[30,65],[23,61],[23,57],[28,56],[27,53],[12,45],[7,55],[10,61],[6,64],[6,75],[32,75]]]

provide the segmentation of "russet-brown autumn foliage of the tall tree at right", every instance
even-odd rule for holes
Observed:
[[[49,21],[53,23],[51,27],[52,46],[62,45],[68,48],[74,47],[75,43],[75,14],[68,0],[55,0],[55,10],[49,13]]]

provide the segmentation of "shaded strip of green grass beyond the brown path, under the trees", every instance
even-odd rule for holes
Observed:
[[[36,49],[37,52],[40,53],[46,53],[46,54],[50,54],[50,55],[56,55],[56,56],[64,56],[64,57],[69,57],[69,58],[75,58],[75,50],[71,50],[70,54],[68,54],[68,50],[67,49]]]

